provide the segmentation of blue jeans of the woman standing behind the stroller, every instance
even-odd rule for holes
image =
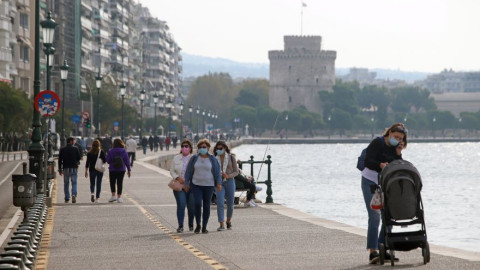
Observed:
[[[378,226],[380,225],[380,211],[375,211],[370,208],[370,201],[373,197],[373,187],[376,184],[364,177],[362,177],[362,192],[365,206],[368,212],[368,230],[367,230],[367,249],[378,249],[379,243],[385,243],[383,224],[378,235]]]

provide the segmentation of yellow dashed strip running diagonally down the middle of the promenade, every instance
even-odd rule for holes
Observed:
[[[173,240],[175,240],[175,242],[177,242],[177,244],[179,244],[180,246],[182,246],[183,248],[185,248],[186,250],[190,251],[190,253],[192,253],[195,257],[199,258],[200,260],[202,260],[203,262],[205,262],[206,264],[210,265],[210,267],[212,267],[212,269],[215,269],[215,270],[227,270],[228,268],[224,265],[222,265],[221,263],[219,263],[218,261],[214,260],[213,258],[209,257],[208,255],[206,255],[205,253],[201,252],[200,250],[198,250],[196,247],[192,246],[191,244],[185,242],[185,240],[183,240],[180,235],[170,231],[168,228],[166,228],[165,226],[162,225],[162,223],[158,220],[155,219],[155,217],[153,217],[145,208],[143,208],[143,206],[141,206],[138,202],[136,202],[134,199],[132,199],[130,196],[128,196],[128,194],[125,194],[124,195],[125,197],[127,197],[133,204],[135,204],[135,206],[138,207],[138,209],[140,210],[140,212],[142,212],[150,221],[153,222],[153,224],[155,224],[160,230],[162,230],[165,234],[167,234],[168,236],[170,236],[170,238],[172,238]]]

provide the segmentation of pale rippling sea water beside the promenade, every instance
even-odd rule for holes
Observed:
[[[364,144],[242,145],[238,158],[272,156],[273,200],[300,211],[367,228],[355,166]],[[403,158],[423,181],[422,199],[431,244],[480,251],[480,143],[409,143]],[[245,168],[244,168],[245,169]],[[258,178],[260,165],[255,165]],[[249,172],[249,169],[246,170]],[[267,167],[260,170],[266,179]],[[265,189],[264,189],[265,190]],[[258,198],[265,201],[265,192]]]

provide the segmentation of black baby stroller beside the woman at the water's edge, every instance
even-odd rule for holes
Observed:
[[[385,262],[386,250],[390,250],[393,266],[395,250],[409,251],[416,248],[422,248],[423,263],[428,263],[430,248],[420,196],[422,189],[420,173],[412,163],[406,160],[395,160],[379,174],[379,184],[384,198],[380,211],[385,236],[385,244],[379,245],[380,264],[383,265]],[[395,226],[406,228],[412,225],[417,225],[420,229],[392,232]]]

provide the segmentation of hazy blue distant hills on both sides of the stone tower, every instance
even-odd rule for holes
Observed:
[[[267,63],[242,63],[225,58],[214,58],[182,53],[183,76],[198,77],[208,73],[227,72],[232,78],[267,78],[270,76]],[[343,76],[350,68],[336,68],[336,76]],[[377,79],[404,80],[409,83],[425,79],[430,73],[393,69],[371,69]]]

